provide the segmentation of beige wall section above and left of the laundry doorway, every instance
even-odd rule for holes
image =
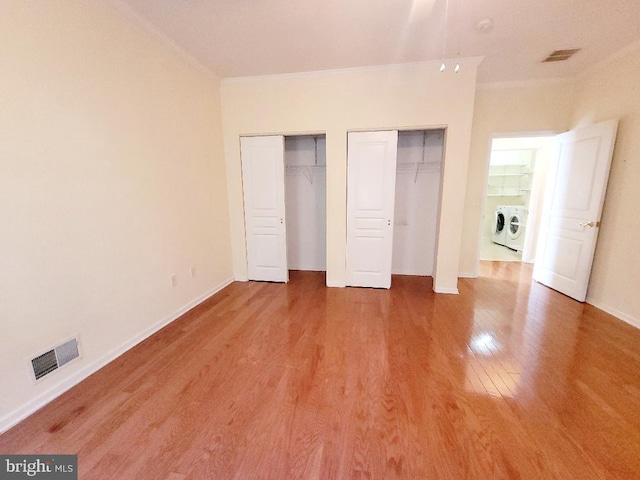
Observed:
[[[509,136],[568,130],[573,102],[574,88],[571,83],[478,87],[460,251],[461,276],[477,276],[492,137],[496,134]]]

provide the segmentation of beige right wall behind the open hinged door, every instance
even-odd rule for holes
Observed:
[[[640,326],[640,46],[577,82],[574,125],[618,118],[587,301]]]

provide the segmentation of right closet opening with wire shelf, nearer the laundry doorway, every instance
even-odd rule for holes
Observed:
[[[444,129],[398,132],[394,275],[433,275],[444,134]]]

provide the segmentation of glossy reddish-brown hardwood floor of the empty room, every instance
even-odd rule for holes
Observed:
[[[83,480],[640,478],[640,331],[526,265],[482,274],[232,284],[0,452],[77,453]]]

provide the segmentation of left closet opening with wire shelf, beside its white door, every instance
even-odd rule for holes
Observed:
[[[284,137],[287,268],[326,272],[326,136]]]

